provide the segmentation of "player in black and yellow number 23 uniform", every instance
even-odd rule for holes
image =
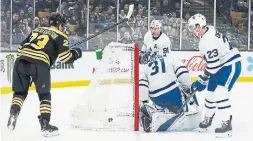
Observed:
[[[66,34],[62,32],[66,24],[59,15],[49,18],[50,27],[33,30],[19,45],[13,69],[12,90],[14,91],[7,127],[14,130],[18,115],[27,97],[31,83],[35,84],[40,100],[41,131],[44,136],[58,135],[58,128],[49,124],[51,117],[51,77],[50,67],[57,58],[63,63],[72,63],[82,57],[80,48],[69,48]]]

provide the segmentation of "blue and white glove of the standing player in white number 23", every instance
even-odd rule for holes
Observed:
[[[199,92],[203,91],[206,88],[208,81],[208,77],[203,77],[202,75],[199,75],[198,80],[192,83],[191,91],[194,92],[195,89],[197,89],[197,91]]]

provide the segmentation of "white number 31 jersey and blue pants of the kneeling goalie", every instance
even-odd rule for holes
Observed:
[[[160,107],[164,107],[166,102],[180,107],[182,95],[178,82],[191,85],[189,72],[183,62],[172,54],[158,58],[140,69],[140,101],[150,98]]]

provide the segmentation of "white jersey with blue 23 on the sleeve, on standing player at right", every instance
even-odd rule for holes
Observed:
[[[215,74],[222,66],[241,61],[238,49],[233,48],[228,38],[213,26],[207,26],[206,33],[200,39],[199,50],[206,60],[206,71],[211,74]]]

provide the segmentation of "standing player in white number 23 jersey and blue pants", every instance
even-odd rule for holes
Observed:
[[[206,26],[206,18],[201,14],[192,16],[188,21],[189,30],[200,38],[199,51],[207,66],[203,75],[192,84],[192,89],[203,91],[205,97],[205,118],[200,129],[211,126],[216,110],[221,117],[220,126],[215,129],[216,137],[231,136],[232,113],[229,101],[230,91],[241,73],[241,55],[233,48],[228,38],[213,26]],[[217,114],[218,114],[217,113]]]

